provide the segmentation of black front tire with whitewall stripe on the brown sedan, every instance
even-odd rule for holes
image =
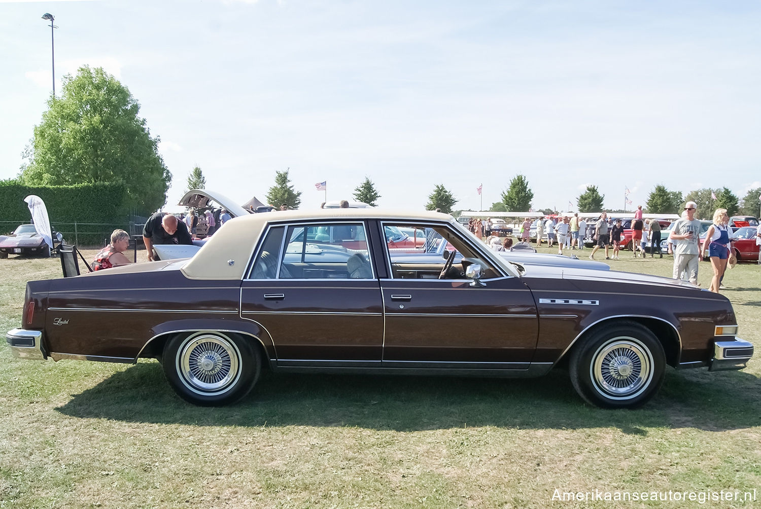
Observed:
[[[629,396],[619,397],[607,393],[592,374],[597,357],[606,345],[616,340],[629,341],[641,348],[650,364],[647,380],[638,391]],[[658,392],[663,383],[665,366],[663,345],[653,333],[638,323],[622,323],[598,329],[584,339],[572,355],[571,377],[575,389],[587,402],[607,409],[632,409],[644,405]]]

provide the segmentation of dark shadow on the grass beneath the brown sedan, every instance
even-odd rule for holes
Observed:
[[[77,418],[199,426],[349,426],[419,431],[463,426],[615,427],[708,431],[761,425],[761,380],[753,374],[667,371],[664,387],[634,411],[581,401],[568,373],[537,379],[265,374],[232,406],[199,407],[170,390],[161,367],[139,363],[72,397],[57,410]]]

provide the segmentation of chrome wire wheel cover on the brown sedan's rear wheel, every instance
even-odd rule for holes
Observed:
[[[194,393],[222,394],[240,378],[240,351],[224,334],[199,332],[177,349],[177,374]]]

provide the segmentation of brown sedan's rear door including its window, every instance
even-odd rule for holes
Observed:
[[[282,366],[380,363],[383,307],[361,221],[270,227],[240,313],[269,332]]]

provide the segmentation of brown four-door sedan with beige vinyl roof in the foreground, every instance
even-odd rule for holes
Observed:
[[[386,226],[435,231],[460,256],[445,250],[431,261],[420,250],[420,261],[395,261]],[[365,246],[317,240],[339,227]],[[6,335],[14,355],[157,358],[176,393],[199,405],[237,401],[265,367],[485,377],[568,367],[587,402],[633,408],[658,391],[667,365],[736,370],[753,355],[721,294],[656,276],[514,264],[436,212],[234,218],[191,259],[30,281],[24,299],[21,328]]]

